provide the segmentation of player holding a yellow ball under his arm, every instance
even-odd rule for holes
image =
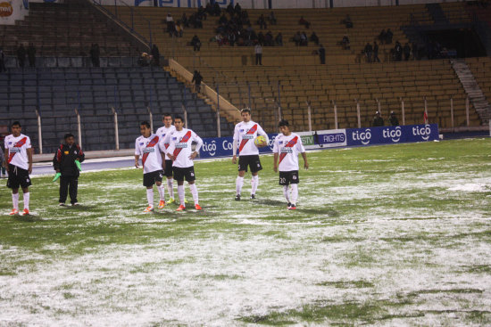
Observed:
[[[251,199],[255,199],[255,192],[259,185],[258,173],[262,169],[261,161],[259,160],[259,150],[254,144],[254,138],[257,135],[264,135],[266,143],[270,143],[268,135],[264,132],[258,123],[251,120],[251,110],[243,109],[240,111],[242,120],[238,123],[234,130],[234,141],[232,147],[232,163],[237,163],[237,146],[238,146],[238,176],[236,180],[236,200],[240,200],[240,193],[244,185],[244,176],[247,172],[247,167],[251,168],[252,188]]]

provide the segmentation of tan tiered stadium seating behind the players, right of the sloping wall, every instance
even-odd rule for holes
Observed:
[[[264,47],[262,63],[253,65],[253,48],[245,46],[219,46],[208,42],[214,36],[217,17],[204,20],[204,29],[185,29],[184,37],[169,37],[162,22],[168,12],[178,20],[183,12],[187,16],[196,12],[183,8],[138,8],[153,23],[159,47],[168,56],[176,58],[187,69],[200,69],[204,82],[212,87],[220,86],[220,92],[237,107],[251,106],[263,126],[275,129],[280,105],[285,118],[293,120],[299,130],[307,129],[307,110],[313,111],[313,129],[334,128],[334,104],[337,106],[338,127],[357,127],[356,102],[360,103],[362,127],[369,127],[376,110],[387,118],[394,110],[401,120],[401,100],[404,100],[405,124],[423,122],[424,103],[429,112],[429,122],[440,127],[451,127],[450,99],[454,102],[454,126],[467,125],[465,112],[466,94],[448,60],[400,61],[390,55],[396,40],[409,42],[403,27],[412,20],[418,24],[432,24],[429,9],[423,5],[398,7],[335,8],[329,10],[295,9],[275,10],[277,25],[271,25],[273,35],[279,31],[284,36],[284,46]],[[459,9],[460,11],[460,9]],[[254,22],[270,11],[249,10]],[[452,9],[447,12],[454,12]],[[340,20],[349,14],[353,29],[346,29]],[[120,12],[120,18],[129,22],[129,13]],[[304,16],[312,22],[320,43],[326,47],[327,65],[320,66],[315,45],[296,46],[289,39],[301,29],[298,18]],[[466,16],[467,17],[467,16]],[[452,19],[452,18],[451,18]],[[367,42],[379,36],[381,29],[394,32],[393,43],[380,45],[382,64],[368,64],[362,50]],[[136,25],[145,33],[145,24]],[[351,49],[345,51],[338,41],[348,33]],[[188,41],[193,35],[202,40],[202,48],[193,53]],[[411,58],[413,59],[413,57]],[[470,126],[481,125],[481,120],[470,108]]]

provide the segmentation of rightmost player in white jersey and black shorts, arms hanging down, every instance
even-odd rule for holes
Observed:
[[[283,194],[288,202],[288,209],[296,209],[296,200],[298,199],[298,153],[302,153],[304,158],[304,168],[309,168],[307,154],[305,153],[304,144],[299,135],[292,133],[287,120],[279,122],[279,131],[281,132],[273,144],[273,170],[279,170],[279,184],[283,186]],[[291,190],[288,190],[288,185]],[[289,192],[291,191],[291,192]]]

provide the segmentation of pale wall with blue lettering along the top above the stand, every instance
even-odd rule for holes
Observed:
[[[35,0],[36,2],[56,2],[59,0]],[[98,4],[126,4],[131,6],[186,7],[197,8],[209,0],[94,0]],[[245,9],[292,9],[292,8],[330,8],[332,7],[366,7],[381,5],[430,4],[458,2],[458,0],[217,0],[221,7],[240,4]]]

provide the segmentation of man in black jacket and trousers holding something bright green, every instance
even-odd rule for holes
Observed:
[[[78,206],[77,191],[79,187],[79,164],[85,159],[85,154],[75,143],[75,136],[66,134],[65,143],[61,144],[54,154],[53,167],[60,176],[60,206],[65,205],[67,188],[70,186],[70,200],[72,206]]]

